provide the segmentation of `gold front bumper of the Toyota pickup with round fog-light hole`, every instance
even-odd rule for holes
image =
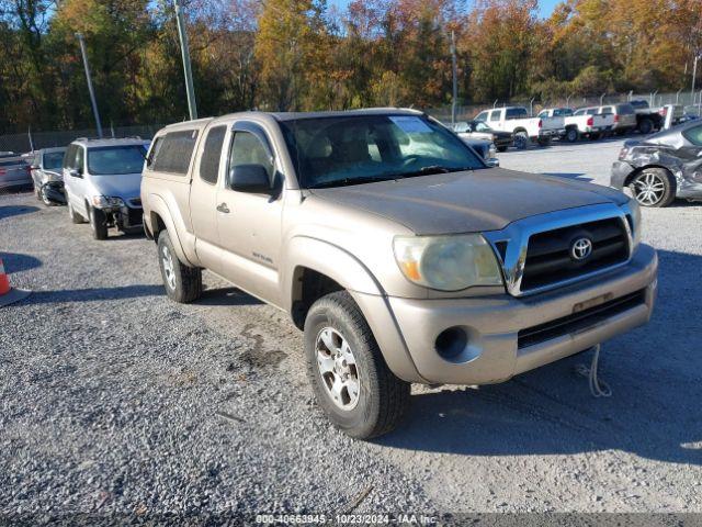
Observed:
[[[390,298],[388,302],[422,381],[489,384],[580,352],[648,322],[657,291],[657,268],[656,251],[642,245],[625,267],[548,293],[521,299],[508,294],[451,300]],[[592,317],[590,323],[586,319],[585,325],[562,334],[556,329],[536,344],[520,337],[520,332],[568,318],[584,306],[595,310],[598,302],[604,306],[605,301],[637,292],[637,303],[624,304],[611,316]],[[468,340],[462,352],[449,360],[437,352],[435,343],[442,332],[453,327],[462,328]],[[378,339],[387,355],[382,340],[388,339]],[[395,355],[388,360],[390,368],[398,359]]]

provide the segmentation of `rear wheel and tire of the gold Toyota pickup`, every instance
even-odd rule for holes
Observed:
[[[178,259],[168,231],[158,236],[158,262],[169,299],[188,304],[202,295],[202,269],[189,267]]]

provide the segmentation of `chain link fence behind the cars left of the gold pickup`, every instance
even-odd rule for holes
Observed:
[[[156,132],[162,128],[162,124],[145,124],[134,126],[110,126],[103,130],[104,137],[141,137],[150,139]],[[27,130],[23,134],[0,135],[0,152],[14,152],[23,154],[50,148],[54,146],[67,146],[78,137],[98,137],[95,128],[66,130],[54,132],[33,132]]]

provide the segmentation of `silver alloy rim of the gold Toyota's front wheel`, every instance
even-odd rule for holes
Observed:
[[[361,380],[349,341],[337,329],[325,327],[317,334],[315,359],[321,384],[331,402],[346,412],[355,408]]]

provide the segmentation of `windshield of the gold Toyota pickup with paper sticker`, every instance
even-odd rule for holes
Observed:
[[[463,141],[423,115],[297,119],[281,128],[303,188],[485,168]]]

